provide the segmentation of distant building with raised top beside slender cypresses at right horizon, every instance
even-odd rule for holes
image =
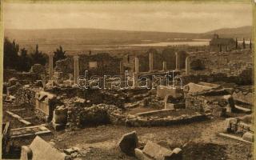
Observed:
[[[210,51],[221,52],[234,50],[235,41],[233,38],[219,38],[218,34],[214,34],[214,38],[210,40]]]

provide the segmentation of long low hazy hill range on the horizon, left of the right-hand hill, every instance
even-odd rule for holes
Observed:
[[[146,40],[168,41],[170,38],[194,38],[198,34],[104,29],[5,30],[5,36],[17,40],[54,42],[78,41],[85,45],[130,44]]]

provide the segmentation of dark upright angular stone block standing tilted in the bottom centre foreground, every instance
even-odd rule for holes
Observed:
[[[136,131],[122,135],[120,142],[118,142],[118,146],[122,152],[128,155],[134,155],[134,149],[138,146],[138,137]]]

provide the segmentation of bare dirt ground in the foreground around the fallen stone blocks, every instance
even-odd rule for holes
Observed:
[[[224,119],[216,119],[167,127],[98,126],[58,133],[55,140],[60,148],[78,146],[87,150],[84,159],[134,159],[122,154],[117,144],[122,134],[136,130],[139,142],[144,144],[153,141],[172,149],[189,142],[184,159],[250,159],[250,145],[217,135],[224,123]]]

